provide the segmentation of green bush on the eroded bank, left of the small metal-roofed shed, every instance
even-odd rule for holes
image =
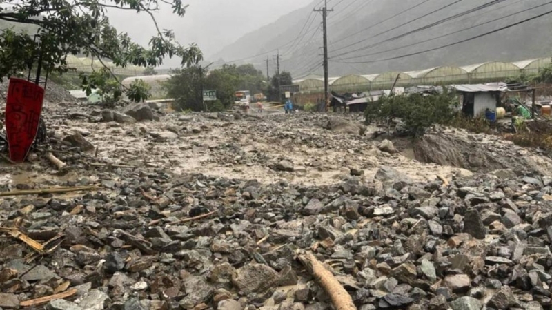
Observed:
[[[382,96],[368,103],[364,116],[366,123],[380,121],[387,125],[394,118],[400,118],[408,135],[422,136],[434,124],[453,121],[458,105],[456,96],[444,87],[440,94]]]

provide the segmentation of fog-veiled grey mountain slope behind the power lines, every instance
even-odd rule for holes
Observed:
[[[273,55],[279,49],[281,70],[290,71],[294,79],[322,74],[322,14],[313,12],[319,3],[322,1],[315,0],[246,34],[210,56],[210,61],[215,61],[215,65],[253,63],[266,72],[268,57],[273,74]],[[328,13],[330,76],[550,56],[552,14],[448,48],[424,52],[552,11],[552,3],[544,3],[549,1],[329,0],[328,8],[334,9]],[[402,57],[408,54],[415,55]],[[395,57],[400,58],[385,60]]]

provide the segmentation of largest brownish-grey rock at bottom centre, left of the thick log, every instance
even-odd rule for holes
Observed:
[[[245,265],[237,269],[232,282],[244,294],[262,293],[279,281],[278,273],[262,264]]]

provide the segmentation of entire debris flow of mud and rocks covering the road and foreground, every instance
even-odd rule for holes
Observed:
[[[357,309],[552,304],[552,166],[531,150],[439,127],[393,145],[353,116],[75,102],[44,116],[66,167],[40,150],[0,165],[0,192],[45,192],[0,197],[0,227],[62,241],[30,261],[0,231],[1,309],[332,309],[305,253]]]

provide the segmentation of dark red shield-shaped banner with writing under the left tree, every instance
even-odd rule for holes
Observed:
[[[10,79],[6,99],[6,135],[10,159],[22,163],[37,136],[44,89],[22,79]]]

